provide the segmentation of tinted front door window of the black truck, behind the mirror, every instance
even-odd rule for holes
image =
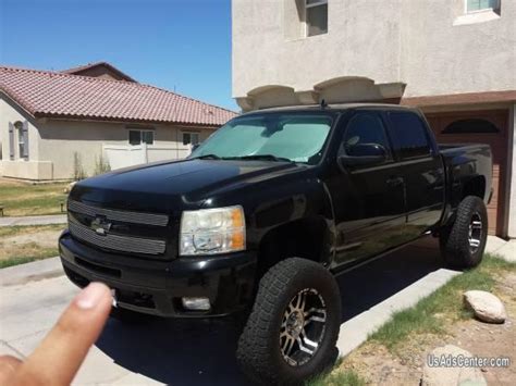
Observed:
[[[347,123],[341,151],[352,155],[353,148],[359,145],[377,145],[385,150],[390,159],[389,139],[385,127],[379,115],[374,113],[358,113]]]

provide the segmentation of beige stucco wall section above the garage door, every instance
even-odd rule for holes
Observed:
[[[465,0],[405,2],[404,97],[516,89],[516,1],[501,0],[500,17],[454,25],[468,23],[464,4]]]

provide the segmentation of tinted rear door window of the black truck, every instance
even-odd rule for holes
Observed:
[[[418,158],[431,152],[427,127],[421,119],[411,112],[390,112],[394,148],[402,158]]]

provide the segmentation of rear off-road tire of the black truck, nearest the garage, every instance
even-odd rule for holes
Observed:
[[[475,215],[481,221],[480,245],[471,251],[469,244],[469,226]],[[483,201],[476,196],[467,196],[460,201],[455,221],[441,229],[439,244],[446,265],[457,269],[477,266],[483,257],[488,237],[488,211]]]

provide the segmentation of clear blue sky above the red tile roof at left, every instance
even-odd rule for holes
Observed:
[[[238,110],[231,0],[0,0],[0,64],[59,71],[98,61]]]

